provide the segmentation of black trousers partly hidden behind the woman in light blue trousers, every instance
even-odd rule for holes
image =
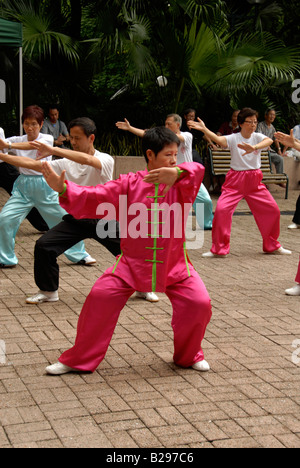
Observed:
[[[0,187],[9,195],[11,195],[14,183],[19,175],[19,171],[14,166],[7,163],[0,163]],[[28,213],[27,220],[38,231],[43,232],[49,230],[46,221],[44,221],[36,208],[33,208],[30,213]]]

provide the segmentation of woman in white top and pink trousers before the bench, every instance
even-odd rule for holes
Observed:
[[[263,238],[265,253],[291,254],[278,242],[280,235],[280,210],[274,198],[262,183],[261,151],[272,140],[256,133],[258,113],[246,107],[238,115],[241,131],[232,135],[218,136],[206,128],[204,122],[189,122],[222,148],[229,147],[231,170],[222,187],[217,203],[212,229],[212,248],[204,257],[226,256],[230,252],[232,216],[238,203],[245,199],[252,211]]]

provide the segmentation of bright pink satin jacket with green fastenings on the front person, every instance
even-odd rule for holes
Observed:
[[[119,221],[122,253],[107,272],[136,291],[165,292],[191,275],[185,226],[205,169],[198,163],[178,167],[184,173],[166,195],[165,185],[143,181],[145,170],[96,187],[68,181],[60,196],[61,206],[77,219]]]

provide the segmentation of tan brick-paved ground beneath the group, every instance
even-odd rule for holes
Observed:
[[[105,361],[93,375],[45,375],[74,341],[85,297],[113,258],[94,241],[97,267],[60,259],[61,301],[25,305],[36,291],[26,222],[17,236],[19,266],[0,271],[0,447],[300,447],[300,301],[294,284],[300,231],[287,230],[297,192],[284,200],[281,240],[291,257],[261,253],[261,238],[245,203],[234,217],[232,254],[190,257],[213,304],[203,344],[212,370],[199,374],[172,363],[171,307],[132,298],[123,310]],[[0,190],[0,206],[6,195]],[[216,199],[214,199],[214,204]],[[295,342],[295,340],[299,340]],[[293,348],[293,343],[297,348]],[[293,355],[294,353],[294,355]],[[293,363],[292,357],[294,356]]]

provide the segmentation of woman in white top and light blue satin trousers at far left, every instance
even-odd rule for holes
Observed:
[[[53,137],[40,133],[43,121],[44,112],[40,107],[27,107],[22,116],[26,135],[0,140],[0,149],[35,159],[37,152],[31,149],[28,142],[38,140],[53,146]],[[21,223],[33,207],[38,209],[50,229],[61,222],[63,216],[67,214],[59,205],[57,193],[48,186],[40,173],[20,168],[20,176],[14,184],[12,196],[0,213],[0,268],[9,268],[18,264],[15,237]],[[85,251],[84,242],[67,250],[65,255],[73,263],[90,258]]]

